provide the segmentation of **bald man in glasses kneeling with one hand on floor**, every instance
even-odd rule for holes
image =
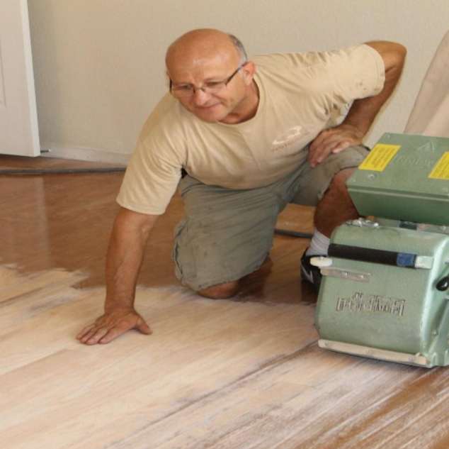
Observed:
[[[147,120],[118,196],[105,314],[79,333],[81,343],[109,343],[131,328],[151,333],[133,307],[137,274],[181,169],[186,218],[174,260],[183,284],[208,298],[236,294],[239,279],[268,255],[289,202],[317,206],[302,276],[318,284],[309,258],[326,254],[333,229],[358,216],[345,182],[367,154],[362,139],[405,53],[402,45],[373,42],[248,61],[239,40],[221,31],[178,38],[166,54],[171,95]],[[343,123],[326,129],[352,101]]]

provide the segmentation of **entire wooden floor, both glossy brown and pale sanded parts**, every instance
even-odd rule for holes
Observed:
[[[0,156],[0,168],[93,167]],[[105,165],[102,165],[105,167]],[[74,338],[101,314],[103,262],[123,174],[0,176],[3,449],[449,448],[449,369],[317,347],[307,240],[276,236],[229,301],[174,277],[174,198],[147,247],[137,309],[154,331]],[[311,231],[289,206],[279,228]]]

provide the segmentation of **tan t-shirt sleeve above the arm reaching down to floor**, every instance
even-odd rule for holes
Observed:
[[[137,143],[117,197],[120,206],[141,214],[166,211],[181,178],[181,163],[157,155],[147,140]]]

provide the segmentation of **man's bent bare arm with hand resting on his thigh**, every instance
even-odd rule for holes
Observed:
[[[339,153],[352,146],[360,145],[373,124],[385,101],[392,94],[404,67],[407,50],[393,42],[368,42],[382,57],[385,65],[385,84],[382,92],[353,102],[341,125],[329,128],[317,135],[309,148],[309,164],[316,167],[331,153]]]

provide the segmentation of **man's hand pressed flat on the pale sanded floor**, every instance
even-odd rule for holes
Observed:
[[[97,318],[95,323],[86,326],[76,338],[86,345],[105,344],[131,329],[137,329],[147,335],[152,333],[148,324],[134,309],[117,307]]]

